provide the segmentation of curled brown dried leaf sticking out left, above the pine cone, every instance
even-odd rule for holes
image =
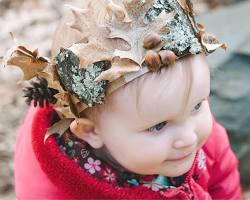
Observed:
[[[11,48],[3,59],[3,66],[15,65],[19,67],[24,74],[24,80],[30,80],[38,72],[43,71],[48,65],[48,60],[38,56],[38,50],[30,51],[24,46],[15,46]]]

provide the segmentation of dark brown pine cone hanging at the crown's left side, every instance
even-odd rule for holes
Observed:
[[[34,106],[37,104],[41,108],[44,107],[44,101],[46,103],[46,107],[49,106],[49,103],[55,104],[57,99],[54,97],[55,94],[58,93],[57,90],[48,87],[48,82],[43,79],[37,77],[36,80],[30,82],[29,87],[25,87],[23,89],[23,97],[26,98],[25,102],[30,105],[34,100]]]

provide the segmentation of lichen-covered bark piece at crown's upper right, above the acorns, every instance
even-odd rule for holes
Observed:
[[[146,13],[144,22],[150,23],[164,9],[166,13],[175,11],[176,15],[172,21],[166,23],[166,27],[171,30],[170,33],[160,35],[161,39],[166,42],[163,49],[175,52],[178,57],[188,53],[200,53],[202,46],[195,36],[195,31],[188,17],[177,0],[155,0],[153,7]]]

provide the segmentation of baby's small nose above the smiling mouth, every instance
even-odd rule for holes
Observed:
[[[173,148],[182,149],[189,148],[197,144],[197,134],[195,132],[188,132],[181,134],[178,139],[173,142]]]

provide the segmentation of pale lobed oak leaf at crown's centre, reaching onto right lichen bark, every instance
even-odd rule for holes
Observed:
[[[142,24],[138,26],[138,23],[142,23],[142,19],[133,21],[129,27],[110,27],[110,38],[121,38],[130,45],[130,50],[123,51],[116,49],[114,56],[120,58],[128,58],[139,66],[144,62],[146,50],[143,48],[143,41],[147,34],[159,33],[165,26],[168,20],[172,20],[174,13],[166,14],[165,10],[150,24]],[[163,44],[162,44],[163,45]]]

